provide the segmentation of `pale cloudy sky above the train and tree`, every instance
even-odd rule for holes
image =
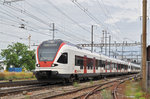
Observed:
[[[0,49],[15,42],[29,45],[29,35],[31,48],[35,49],[34,44],[52,39],[52,23],[55,39],[74,44],[91,42],[91,25],[94,43],[103,41],[102,30],[111,35],[112,42],[140,42],[142,0],[21,0],[11,4],[3,1],[0,0]],[[147,33],[149,36],[149,20]]]

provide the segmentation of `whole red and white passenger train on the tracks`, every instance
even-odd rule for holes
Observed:
[[[39,81],[72,81],[140,72],[140,65],[110,58],[63,40],[42,42],[36,53]]]

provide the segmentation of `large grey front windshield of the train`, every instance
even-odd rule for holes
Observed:
[[[39,61],[53,61],[59,49],[58,43],[44,42],[39,46],[38,57]]]

